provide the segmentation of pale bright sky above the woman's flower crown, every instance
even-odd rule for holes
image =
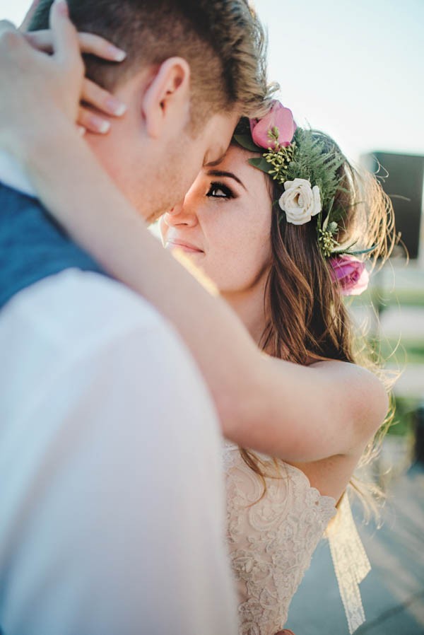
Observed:
[[[93,0],[95,1],[95,0]],[[20,23],[30,2],[0,0]],[[424,154],[424,0],[257,0],[269,29],[269,77],[299,124],[347,155]]]

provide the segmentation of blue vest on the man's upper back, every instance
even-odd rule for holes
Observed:
[[[71,267],[106,275],[40,202],[0,183],[0,310],[21,289]]]

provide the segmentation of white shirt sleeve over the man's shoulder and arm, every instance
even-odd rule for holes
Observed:
[[[0,351],[5,635],[234,635],[218,422],[170,325],[68,269],[1,310]]]

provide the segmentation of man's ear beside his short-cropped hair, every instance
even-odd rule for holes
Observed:
[[[158,139],[168,130],[184,129],[190,120],[190,66],[182,57],[160,64],[141,103],[148,136]]]

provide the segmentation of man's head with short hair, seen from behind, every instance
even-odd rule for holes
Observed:
[[[46,28],[41,0],[31,30]],[[204,163],[223,155],[240,115],[266,97],[264,37],[247,0],[69,0],[80,31],[126,51],[122,64],[86,57],[88,76],[128,106],[88,142],[145,216],[175,205]]]

